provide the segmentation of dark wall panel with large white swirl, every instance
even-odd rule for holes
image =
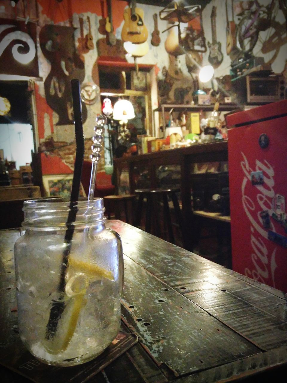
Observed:
[[[39,77],[36,24],[0,19],[0,74]]]

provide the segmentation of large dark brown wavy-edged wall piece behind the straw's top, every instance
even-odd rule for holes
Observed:
[[[59,115],[56,125],[73,124],[71,80],[80,83],[85,78],[85,65],[78,55],[74,40],[75,28],[60,25],[45,25],[39,34],[40,47],[51,63],[51,71],[44,81],[47,104]],[[83,123],[87,118],[82,103]]]

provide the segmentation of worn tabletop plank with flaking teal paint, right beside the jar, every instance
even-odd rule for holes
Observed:
[[[260,352],[140,265],[124,262],[122,317],[158,365],[184,375]]]

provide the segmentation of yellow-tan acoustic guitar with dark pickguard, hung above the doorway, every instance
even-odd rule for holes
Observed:
[[[147,41],[148,30],[143,23],[143,10],[136,7],[135,0],[131,7],[124,10],[124,25],[122,27],[122,40],[141,44]]]

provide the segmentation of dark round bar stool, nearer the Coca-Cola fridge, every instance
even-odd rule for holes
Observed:
[[[184,235],[184,227],[182,214],[178,203],[178,198],[176,193],[180,190],[179,188],[168,188],[168,189],[136,189],[135,194],[139,195],[138,205],[137,205],[137,213],[136,213],[136,222],[135,225],[137,227],[140,226],[141,216],[142,216],[142,207],[143,207],[143,199],[147,199],[147,208],[146,208],[146,216],[145,216],[145,231],[148,233],[151,232],[152,228],[152,218],[155,221],[155,234],[160,236],[160,220],[158,216],[158,206],[157,202],[161,199],[163,202],[163,214],[166,222],[166,226],[168,229],[168,236],[171,243],[175,243],[173,228],[171,223],[171,214],[170,207],[168,205],[168,196],[171,197],[173,201],[174,214],[176,218],[176,223],[179,226],[179,230],[181,232],[181,237],[183,241],[183,245],[185,244],[185,235]]]

